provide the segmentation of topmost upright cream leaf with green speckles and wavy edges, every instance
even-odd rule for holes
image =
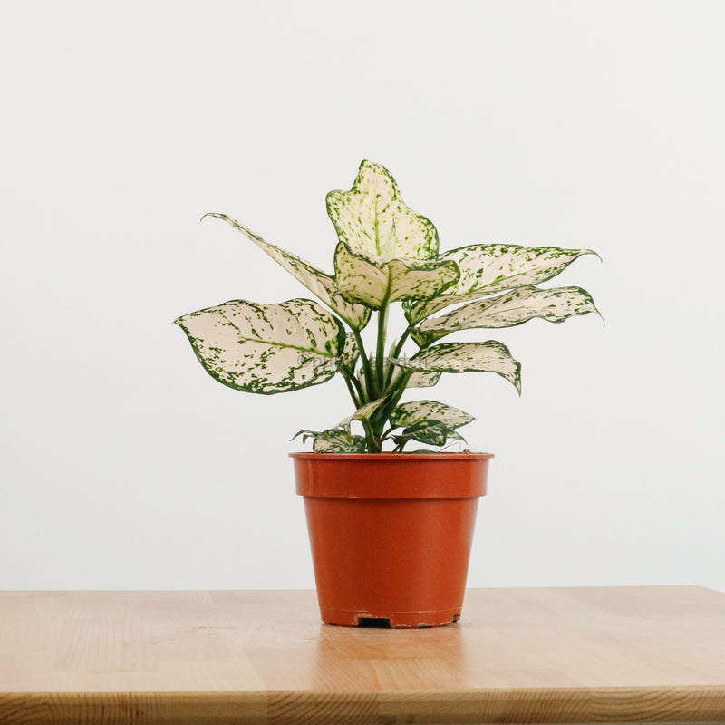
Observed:
[[[327,213],[340,241],[364,256],[430,259],[438,255],[438,232],[408,208],[388,169],[363,160],[350,191],[331,191]]]

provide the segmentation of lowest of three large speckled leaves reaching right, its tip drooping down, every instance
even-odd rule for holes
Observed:
[[[407,370],[423,372],[496,372],[521,391],[521,363],[511,357],[506,345],[486,343],[442,343],[411,358],[391,360]]]

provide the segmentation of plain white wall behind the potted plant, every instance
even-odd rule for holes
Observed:
[[[302,295],[385,164],[442,248],[593,247],[587,316],[432,391],[496,452],[469,584],[725,590],[720,2],[0,7],[0,588],[312,587],[288,442],[341,381],[214,382],[179,314]],[[431,391],[425,391],[427,394]]]

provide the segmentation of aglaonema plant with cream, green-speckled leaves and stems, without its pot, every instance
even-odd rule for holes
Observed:
[[[176,320],[207,372],[239,391],[295,391],[342,375],[354,411],[328,430],[297,434],[311,437],[315,452],[377,453],[383,445],[402,451],[411,440],[434,447],[463,440],[458,429],[472,415],[438,401],[401,403],[403,392],[433,386],[443,372],[496,372],[520,393],[521,366],[494,340],[440,340],[461,330],[598,314],[580,287],[536,286],[592,250],[474,244],[441,254],[436,227],[403,203],[379,164],[363,160],[350,191],[327,195],[327,212],[337,232],[333,275],[226,214],[205,215],[235,227],[326,309],[310,299],[232,300]],[[407,326],[390,341],[397,303]],[[374,325],[370,350],[362,340],[368,325]],[[406,343],[417,347],[410,355]],[[351,431],[353,420],[362,435]]]

